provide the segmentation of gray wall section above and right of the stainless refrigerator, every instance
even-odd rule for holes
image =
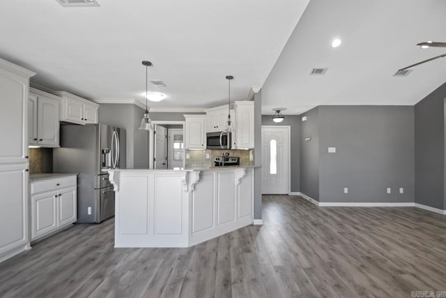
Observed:
[[[132,104],[102,103],[99,123],[125,129],[127,167],[147,167],[148,134],[138,131],[144,110]]]

